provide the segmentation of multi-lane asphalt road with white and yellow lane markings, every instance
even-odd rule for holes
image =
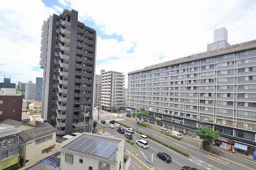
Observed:
[[[118,119],[116,115],[111,114],[100,114],[100,120],[108,119],[106,124],[98,124],[97,129],[100,130],[107,127],[107,133],[104,135],[111,135],[116,137],[124,138],[124,134],[120,134],[116,131],[117,128],[109,128],[108,121],[115,119],[120,121],[130,127],[135,129],[135,119],[134,118],[126,118],[125,115],[122,117],[121,114],[120,118]],[[98,114],[96,114],[95,119],[97,120]],[[106,116],[109,116],[106,117]],[[125,127],[122,127],[125,129]],[[212,148],[211,152],[206,152],[202,149],[199,149],[199,140],[191,137],[184,136],[181,141],[166,136],[164,134],[160,134],[160,127],[156,127],[154,125],[148,125],[148,127],[141,127],[138,126],[138,129],[145,134],[150,134],[162,141],[175,146],[176,148],[180,148],[188,153],[190,153],[190,157],[187,158],[173,150],[170,150],[152,140],[148,140],[149,147],[148,148],[133,148],[130,144],[125,143],[126,153],[132,155],[132,161],[130,165],[130,170],[136,169],[160,169],[160,170],[179,170],[182,166],[190,166],[197,168],[198,170],[255,170],[256,169],[256,162],[246,160],[244,158],[240,158],[234,154],[230,154],[229,152],[225,152],[220,148]],[[96,130],[97,131],[97,130]],[[102,134],[102,130],[98,131],[98,134]],[[139,134],[136,134],[136,138],[138,139]],[[131,140],[135,143],[135,134],[133,134],[133,139]],[[172,162],[166,163],[160,158],[156,157],[158,152],[166,152],[172,157]],[[152,154],[154,154],[153,163],[154,166],[146,162],[146,158],[152,160]]]

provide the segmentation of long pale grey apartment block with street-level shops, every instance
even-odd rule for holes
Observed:
[[[256,40],[166,61],[128,73],[127,111],[149,123],[194,134],[219,130],[219,142],[256,147]]]

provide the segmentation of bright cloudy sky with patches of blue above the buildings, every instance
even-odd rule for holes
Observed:
[[[64,9],[96,30],[96,74],[128,72],[206,51],[214,30],[228,43],[256,39],[255,0],[5,0],[0,6],[0,82],[43,77],[43,21]]]

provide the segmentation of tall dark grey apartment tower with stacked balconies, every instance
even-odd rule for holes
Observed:
[[[57,135],[92,126],[96,31],[78,21],[78,12],[64,10],[42,25],[40,65],[44,69],[42,118]]]

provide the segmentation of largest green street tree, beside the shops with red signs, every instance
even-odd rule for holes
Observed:
[[[195,134],[204,139],[202,144],[205,150],[210,150],[212,140],[215,140],[216,138],[220,137],[218,132],[218,130],[213,130],[211,127],[204,127],[195,130]]]

